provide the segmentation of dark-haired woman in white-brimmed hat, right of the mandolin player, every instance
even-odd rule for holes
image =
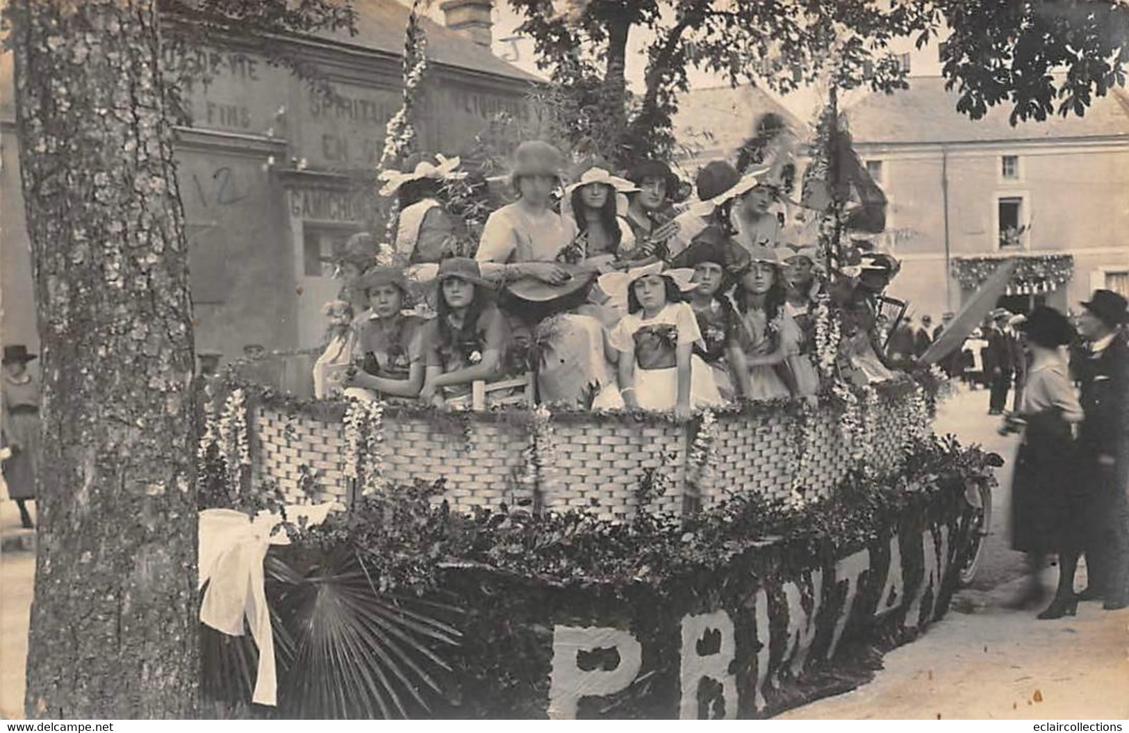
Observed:
[[[576,183],[564,189],[572,217],[585,242],[585,254],[615,254],[634,244],[631,227],[619,217],[619,198],[634,191],[630,181],[612,175],[606,163],[588,164]]]

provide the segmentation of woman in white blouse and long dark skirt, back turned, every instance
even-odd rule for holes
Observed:
[[[1070,343],[1074,329],[1066,316],[1040,306],[1024,324],[1031,367],[1018,420],[1023,442],[1012,478],[1012,548],[1026,552],[1032,582],[1024,601],[1041,592],[1038,568],[1050,552],[1059,557],[1054,600],[1039,614],[1057,619],[1075,612],[1074,573],[1082,549],[1086,496],[1077,480],[1073,426],[1083,411],[1059,347]]]

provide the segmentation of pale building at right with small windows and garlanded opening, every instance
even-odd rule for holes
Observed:
[[[1083,117],[1012,125],[1009,112],[970,120],[939,77],[847,111],[890,200],[892,294],[918,316],[957,311],[1009,255],[1024,259],[1000,302],[1013,312],[1076,309],[1097,287],[1129,295],[1129,94],[1096,97]]]

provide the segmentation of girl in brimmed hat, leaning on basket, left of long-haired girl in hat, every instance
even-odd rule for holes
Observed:
[[[353,322],[355,354],[361,368],[352,369],[344,385],[364,390],[368,396],[415,398],[423,386],[426,321],[402,313],[410,299],[404,272],[396,267],[376,267],[361,277],[361,286],[369,305]]]

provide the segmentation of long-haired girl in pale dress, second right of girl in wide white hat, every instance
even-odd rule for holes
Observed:
[[[750,400],[774,400],[796,392],[789,358],[799,352],[799,329],[785,309],[780,255],[753,247],[733,298],[741,314],[738,340],[746,369],[737,374],[741,393]]]

